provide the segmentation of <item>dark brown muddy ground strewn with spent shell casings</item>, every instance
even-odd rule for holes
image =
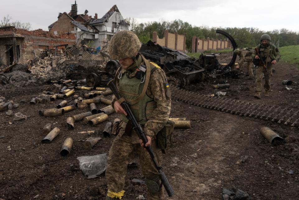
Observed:
[[[229,62],[229,55],[219,57],[220,62]],[[281,105],[298,110],[299,70],[283,60],[274,67],[270,97],[253,98],[254,80],[241,76],[227,78],[227,98],[247,100],[268,105]],[[282,80],[294,81],[292,90],[286,90]],[[201,94],[212,94],[208,80],[187,89]],[[0,113],[0,198],[2,199],[105,199],[107,183],[104,174],[87,179],[79,169],[78,156],[103,154],[109,151],[115,136],[104,138],[100,127],[91,127],[82,122],[69,130],[66,118],[89,111],[73,110],[59,117],[40,117],[38,110],[54,108],[61,100],[45,105],[30,105],[31,96],[44,90],[57,92],[53,85],[20,83],[4,85],[0,96],[20,103],[13,113],[21,112],[27,120],[14,121],[14,116]],[[100,105],[104,107],[104,105]],[[164,155],[163,168],[175,196],[165,199],[220,200],[223,188],[239,187],[255,200],[299,199],[299,137],[298,128],[269,121],[240,117],[172,101],[171,117],[186,117],[191,120],[191,129],[175,129],[173,146]],[[117,114],[109,115],[112,122]],[[42,128],[47,123],[59,127],[60,134],[49,144],[41,143],[45,135]],[[268,126],[285,138],[282,145],[272,146],[259,130]],[[102,140],[92,150],[85,150],[81,140],[90,135],[80,131],[95,130],[92,136]],[[74,139],[71,153],[60,156],[63,141]],[[247,160],[244,157],[248,156]],[[243,162],[242,162],[243,160]],[[136,160],[138,163],[138,159]],[[146,198],[146,188],[133,185],[131,179],[144,178],[137,167],[129,167],[123,199],[135,200],[139,195]],[[167,196],[167,195],[165,195]]]

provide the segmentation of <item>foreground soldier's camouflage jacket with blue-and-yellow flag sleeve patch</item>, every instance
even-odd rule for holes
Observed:
[[[141,56],[138,56],[137,65],[140,66],[142,64],[144,64],[144,61]],[[132,64],[132,66],[129,66],[128,69],[130,70],[121,69],[122,76],[134,77],[137,73],[137,65],[136,63],[134,63]],[[124,73],[126,73],[126,75]],[[170,114],[170,89],[165,87],[165,82],[167,82],[165,72],[161,68],[156,68],[150,75],[150,82],[146,90],[146,95],[154,99],[157,106],[144,126],[145,134],[150,136],[151,138],[154,138],[155,135],[164,127]],[[116,87],[119,88],[118,78],[116,78]],[[114,99],[115,97],[113,96],[113,103]],[[125,125],[126,123],[123,121],[120,123],[120,126],[123,128],[125,127]],[[132,137],[132,142],[138,143],[139,138],[137,134],[133,133]]]

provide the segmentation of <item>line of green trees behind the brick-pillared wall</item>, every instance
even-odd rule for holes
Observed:
[[[227,39],[221,34],[217,34],[216,30],[221,29],[229,33],[236,41],[238,47],[254,47],[260,43],[261,35],[268,34],[271,37],[271,43],[277,46],[299,45],[299,33],[289,31],[287,29],[273,30],[264,32],[258,28],[222,28],[222,27],[206,27],[192,26],[188,22],[183,22],[180,19],[174,21],[147,22],[137,23],[134,18],[126,18],[126,22],[130,24],[129,30],[136,33],[140,41],[146,43],[152,40],[153,32],[157,32],[159,38],[164,37],[164,30],[169,30],[170,33],[178,32],[180,35],[186,36],[186,47],[191,49],[192,36],[200,39]]]

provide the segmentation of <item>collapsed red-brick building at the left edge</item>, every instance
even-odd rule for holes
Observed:
[[[26,63],[45,49],[53,49],[57,45],[73,44],[76,44],[74,33],[54,35],[42,29],[27,31],[15,27],[1,27],[0,65]]]

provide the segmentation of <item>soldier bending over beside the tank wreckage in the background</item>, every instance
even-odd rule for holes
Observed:
[[[243,69],[243,66],[246,66],[245,74],[249,76],[250,79],[253,79],[253,62],[252,62],[252,53],[254,51],[250,50],[248,48],[244,49],[235,49],[234,54],[238,55],[240,57],[240,60],[238,62],[238,65],[236,66],[236,69]]]

